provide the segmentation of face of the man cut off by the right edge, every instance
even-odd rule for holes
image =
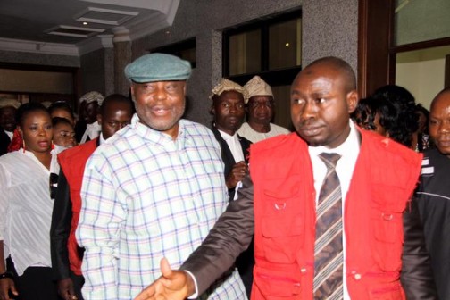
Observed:
[[[439,152],[450,158],[450,89],[441,92],[431,103],[429,136]]]

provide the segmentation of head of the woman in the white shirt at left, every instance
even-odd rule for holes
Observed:
[[[26,149],[33,154],[50,151],[52,146],[52,120],[50,114],[44,111],[28,112],[19,126]]]

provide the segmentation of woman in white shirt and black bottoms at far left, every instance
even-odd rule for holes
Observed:
[[[28,103],[17,123],[22,146],[0,157],[0,298],[56,300],[49,232],[59,166],[52,120],[42,104]]]

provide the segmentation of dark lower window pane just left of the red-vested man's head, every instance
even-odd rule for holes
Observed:
[[[292,121],[290,117],[290,85],[271,88],[275,99],[275,117],[273,118],[273,122],[292,131]]]

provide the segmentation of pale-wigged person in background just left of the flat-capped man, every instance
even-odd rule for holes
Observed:
[[[75,135],[79,144],[96,139],[102,131],[97,122],[98,109],[102,106],[104,96],[92,91],[79,98],[79,121],[75,125]]]

